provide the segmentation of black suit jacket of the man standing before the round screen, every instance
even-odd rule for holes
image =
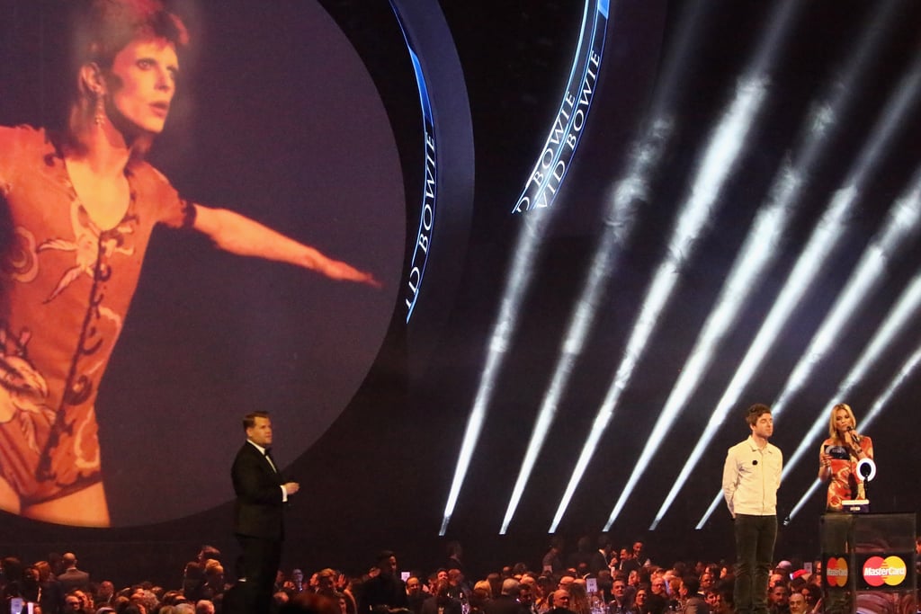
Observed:
[[[282,539],[285,535],[281,474],[249,441],[239,448],[230,470],[234,504],[233,530],[239,535]]]

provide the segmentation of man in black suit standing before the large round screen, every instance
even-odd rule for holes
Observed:
[[[285,481],[272,458],[272,421],[266,411],[243,418],[246,443],[230,471],[237,501],[234,533],[243,550],[244,601],[248,614],[267,614],[285,537],[284,504],[298,491]]]

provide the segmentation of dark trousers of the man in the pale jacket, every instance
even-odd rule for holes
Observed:
[[[733,590],[736,614],[767,614],[767,581],[771,576],[777,516],[737,514],[736,582]]]

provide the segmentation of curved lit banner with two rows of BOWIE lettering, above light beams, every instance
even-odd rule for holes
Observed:
[[[563,100],[543,151],[512,213],[549,207],[563,184],[566,171],[589,115],[598,84],[601,53],[608,28],[609,0],[587,0],[576,56]]]

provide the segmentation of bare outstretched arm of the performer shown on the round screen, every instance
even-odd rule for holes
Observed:
[[[320,272],[331,279],[380,287],[380,282],[371,273],[358,271],[346,262],[327,258],[319,250],[298,243],[249,217],[227,209],[212,209],[197,203],[194,206],[193,227],[214,241],[220,249],[239,256],[287,262]]]

